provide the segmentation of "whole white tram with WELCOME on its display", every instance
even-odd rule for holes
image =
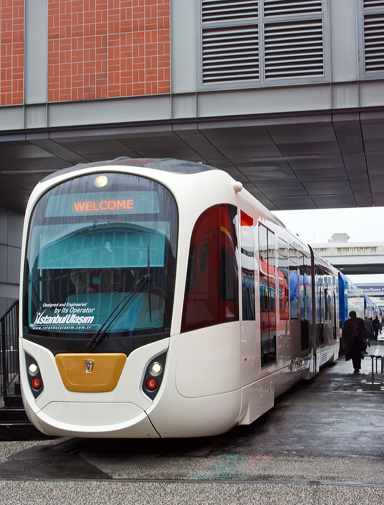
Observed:
[[[223,433],[338,356],[337,271],[204,165],[46,177],[22,266],[22,395],[46,434]]]

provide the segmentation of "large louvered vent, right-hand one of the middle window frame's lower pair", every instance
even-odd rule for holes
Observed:
[[[265,79],[322,77],[322,20],[265,23]]]

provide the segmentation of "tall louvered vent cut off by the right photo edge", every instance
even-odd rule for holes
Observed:
[[[364,16],[365,72],[384,72],[384,13]]]

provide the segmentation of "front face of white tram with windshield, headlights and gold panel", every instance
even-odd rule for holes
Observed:
[[[27,415],[49,435],[158,437],[147,411],[167,373],[175,197],[111,168],[52,180],[32,192],[23,233]]]

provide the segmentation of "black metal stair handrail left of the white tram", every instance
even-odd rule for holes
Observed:
[[[8,394],[11,382],[19,374],[19,300],[0,317],[0,351],[1,351],[1,393]]]

